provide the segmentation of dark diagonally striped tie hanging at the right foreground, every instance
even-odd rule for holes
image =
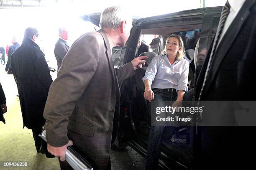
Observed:
[[[211,63],[212,63],[212,58],[214,56],[216,47],[218,45],[222,30],[224,28],[224,25],[225,25],[225,22],[226,22],[226,19],[228,17],[229,12],[230,12],[230,5],[227,1],[225,6],[223,7],[223,10],[222,10],[222,13],[221,13],[220,22],[219,22],[219,25],[218,25],[216,36],[215,36],[213,46],[212,46],[212,51],[211,51],[210,58],[209,58],[209,61],[208,61],[208,65],[207,65],[207,69],[206,69],[206,72],[205,72],[205,79],[204,79],[204,82],[202,84],[202,89],[201,89],[200,94],[199,94],[198,104],[199,104],[199,100],[201,99],[202,91],[205,87],[205,82],[207,80],[207,76],[208,76],[208,73],[209,73],[209,70],[210,70],[210,66],[211,66]]]

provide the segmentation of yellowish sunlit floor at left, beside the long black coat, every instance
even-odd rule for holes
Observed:
[[[4,114],[6,124],[0,122],[0,170],[59,170],[58,159],[37,153],[31,129],[23,129],[17,85],[2,65],[0,77],[8,107]],[[3,162],[27,162],[28,166],[4,167]]]

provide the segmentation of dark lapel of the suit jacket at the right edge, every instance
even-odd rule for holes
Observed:
[[[228,50],[230,49],[233,42],[236,40],[236,36],[239,34],[239,31],[241,30],[241,27],[245,20],[250,15],[250,8],[255,3],[256,0],[246,0],[240,9],[239,13],[236,15],[236,18],[233,20],[231,25],[229,26],[227,32],[223,36],[222,40],[220,41],[220,45],[216,48],[215,54],[213,56],[211,68],[209,71],[209,74],[207,76],[207,81],[205,83],[204,91],[203,93],[207,92],[209,89],[212,81],[214,80],[219,66],[222,63],[224,57],[226,56]],[[232,35],[232,36],[230,36]],[[211,51],[208,51],[207,57],[210,56]],[[218,57],[218,58],[216,58]]]

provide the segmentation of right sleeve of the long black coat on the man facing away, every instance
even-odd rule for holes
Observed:
[[[49,71],[48,64],[44,58],[44,53],[42,51],[35,51],[35,62],[34,67],[36,70],[36,75],[38,76],[41,84],[43,84],[44,88],[49,91],[52,79]]]

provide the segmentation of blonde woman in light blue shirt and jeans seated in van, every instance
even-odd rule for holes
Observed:
[[[148,65],[143,82],[144,98],[149,102],[174,101],[172,106],[180,105],[189,74],[189,62],[183,58],[183,41],[179,35],[172,34],[166,40],[161,55],[152,59]],[[150,107],[149,107],[150,108]],[[161,151],[161,134],[165,126],[151,126],[148,138],[146,170],[157,169]],[[169,134],[175,127],[169,127]]]

